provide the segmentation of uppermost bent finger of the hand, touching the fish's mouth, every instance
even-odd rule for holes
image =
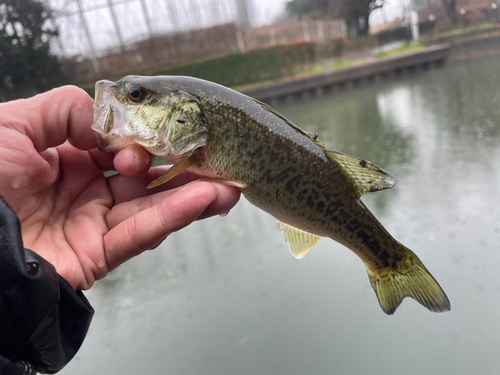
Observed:
[[[88,150],[97,145],[91,129],[93,104],[82,89],[59,87],[29,99],[0,104],[0,126],[25,134],[38,152],[66,140],[81,150]]]

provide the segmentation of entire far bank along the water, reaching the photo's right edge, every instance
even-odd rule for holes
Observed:
[[[383,58],[371,56],[354,61],[346,67],[287,77],[280,81],[242,88],[239,91],[258,100],[275,104],[279,101],[321,95],[327,91],[342,90],[370,81],[429,69],[446,62],[500,54],[500,30],[483,31],[483,33],[487,34],[474,35],[472,38],[460,35],[436,40],[447,42],[446,44],[436,45],[429,41],[428,46],[421,50]]]

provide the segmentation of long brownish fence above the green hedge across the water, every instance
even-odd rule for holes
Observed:
[[[301,41],[320,44],[345,38],[344,21],[283,22],[260,28],[242,29],[236,23],[217,25],[138,41],[122,50],[110,50],[95,59],[76,62],[75,74],[81,81],[117,77],[206,59],[233,52],[272,47]],[[75,64],[75,62],[73,62]]]

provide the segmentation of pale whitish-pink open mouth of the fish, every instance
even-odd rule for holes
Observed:
[[[128,119],[126,107],[113,92],[114,83],[98,81],[95,85],[94,123],[97,148],[104,152],[115,152],[133,144],[132,139],[123,137],[123,129]]]

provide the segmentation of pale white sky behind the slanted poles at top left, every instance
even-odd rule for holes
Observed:
[[[248,1],[248,0],[247,0]],[[252,0],[254,26],[272,23],[284,10],[287,0]],[[189,30],[231,22],[236,19],[235,0],[46,0],[53,10],[60,30],[59,41],[54,43],[57,54],[66,56],[97,54],[109,48],[165,34],[175,30]],[[113,14],[108,6],[114,4]],[[79,5],[91,41],[87,37]],[[150,28],[144,16],[144,8]],[[116,32],[116,24],[120,34]]]

